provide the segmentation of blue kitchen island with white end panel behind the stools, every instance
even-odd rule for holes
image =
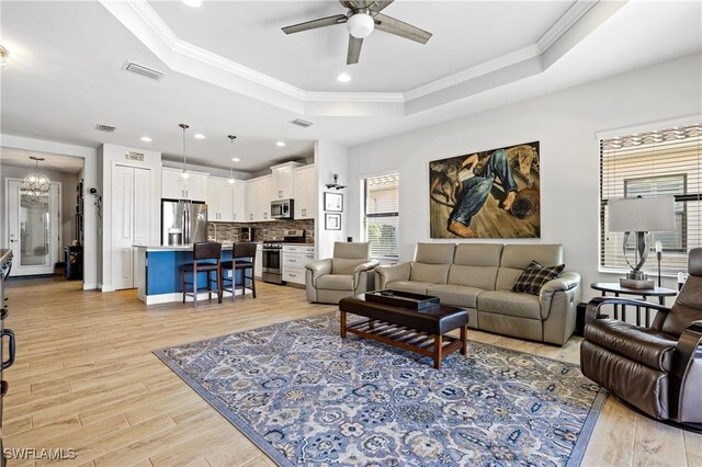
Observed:
[[[181,286],[181,266],[193,262],[193,247],[159,247],[138,246],[137,269],[135,278],[137,284],[137,297],[146,305],[167,304],[182,301],[183,289]],[[231,261],[231,244],[222,247],[222,261]],[[229,272],[231,274],[231,272]],[[237,284],[241,281],[241,271],[237,271]],[[197,274],[197,283],[206,284],[206,273]],[[230,297],[225,292],[225,297]],[[206,292],[197,294],[197,300],[207,298]],[[214,299],[214,298],[213,298]],[[186,297],[192,301],[192,297]]]

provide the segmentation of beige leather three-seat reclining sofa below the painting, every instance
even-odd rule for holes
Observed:
[[[432,295],[467,308],[472,328],[563,345],[575,330],[580,274],[564,271],[539,296],[511,292],[531,261],[564,264],[563,247],[418,243],[415,261],[375,269],[375,288]]]

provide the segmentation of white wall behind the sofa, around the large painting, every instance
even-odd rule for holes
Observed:
[[[438,241],[429,237],[429,161],[539,140],[542,238],[478,241],[563,243],[566,267],[582,274],[584,298],[596,295],[590,283],[618,277],[598,272],[596,135],[688,116],[702,119],[701,58],[682,57],[351,148],[344,179],[350,185],[344,200],[349,235],[359,236],[361,228],[358,180],[398,171],[400,259],[410,260],[418,241]],[[647,264],[652,272],[654,264]],[[675,280],[666,285],[675,287]]]

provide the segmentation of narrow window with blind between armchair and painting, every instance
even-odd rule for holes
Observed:
[[[363,239],[371,243],[371,257],[399,257],[399,175],[363,179]]]

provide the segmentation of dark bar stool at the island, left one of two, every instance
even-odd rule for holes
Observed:
[[[214,262],[213,262],[214,261]],[[207,274],[207,288],[197,287],[197,273]],[[212,278],[212,273],[215,278]],[[193,282],[188,282],[188,274],[192,274]],[[222,303],[222,243],[216,241],[201,241],[193,244],[193,262],[181,266],[181,280],[183,287],[183,303],[185,296],[193,297],[193,307],[197,306],[197,292],[207,291],[207,298],[212,299],[212,293],[217,293],[217,303]],[[217,284],[217,289],[212,289],[212,283]],[[188,285],[192,285],[192,293],[188,292]]]

